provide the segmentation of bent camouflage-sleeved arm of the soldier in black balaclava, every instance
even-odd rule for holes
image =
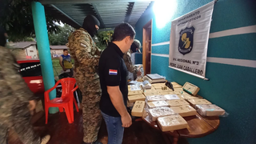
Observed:
[[[92,55],[93,40],[86,34],[81,34],[79,39],[75,39],[77,47],[75,49],[75,56],[78,62],[85,66],[98,66],[99,55]]]

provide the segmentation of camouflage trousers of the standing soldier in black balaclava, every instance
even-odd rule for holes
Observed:
[[[83,142],[95,142],[102,123],[99,109],[102,90],[99,79],[93,82],[78,82],[78,87],[82,92]]]

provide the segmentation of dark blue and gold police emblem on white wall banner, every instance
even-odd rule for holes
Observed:
[[[193,49],[194,26],[181,30],[179,33],[178,51],[185,55]]]

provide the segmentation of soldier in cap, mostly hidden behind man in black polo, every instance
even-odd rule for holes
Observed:
[[[134,66],[133,63],[131,62],[130,54],[135,53],[137,51],[139,52],[140,46],[141,43],[137,39],[134,39],[133,44],[130,46],[130,50],[123,55],[123,60],[126,63],[127,70],[130,73],[136,73],[137,75],[141,75],[142,73],[140,72],[139,68],[136,68],[136,66]]]

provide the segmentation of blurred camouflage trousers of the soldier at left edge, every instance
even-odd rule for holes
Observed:
[[[34,134],[33,126],[30,125],[30,111],[28,103],[15,102],[12,108],[9,106],[1,107],[0,114],[0,143],[6,144],[7,130],[13,129],[18,138],[24,144],[40,144],[41,139]],[[6,110],[5,110],[6,109]]]

